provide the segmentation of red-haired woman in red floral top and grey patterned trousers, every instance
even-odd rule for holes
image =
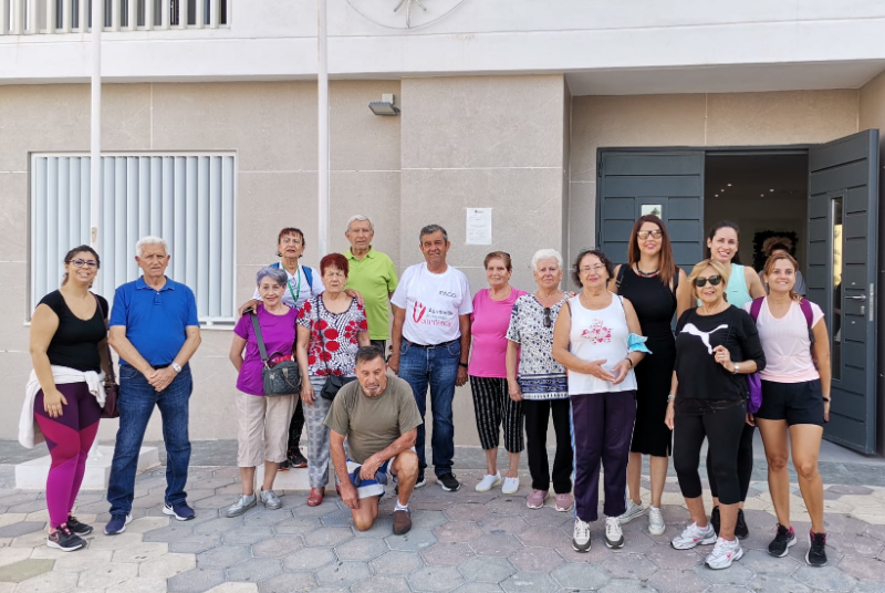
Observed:
[[[323,501],[329,483],[329,427],[325,417],[333,394],[326,388],[330,377],[353,381],[356,351],[369,345],[368,322],[363,305],[344,292],[347,258],[330,253],[320,260],[325,292],[308,299],[298,313],[298,365],[301,368],[301,403],[308,420],[308,475],[311,491],[308,504]],[[308,381],[309,378],[309,381]]]

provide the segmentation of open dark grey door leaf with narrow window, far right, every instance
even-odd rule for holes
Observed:
[[[876,448],[878,131],[809,152],[809,293],[823,309],[832,351],[824,438]]]

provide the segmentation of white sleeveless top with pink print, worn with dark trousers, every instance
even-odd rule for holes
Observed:
[[[582,361],[605,360],[603,368],[612,372],[614,366],[628,354],[627,315],[621,296],[612,294],[612,303],[605,309],[592,311],[581,304],[581,296],[569,299],[572,313],[572,327],[569,332],[571,353]],[[627,378],[617,385],[596,378],[593,375],[569,371],[569,395],[626,392],[636,389],[636,375],[633,368]]]

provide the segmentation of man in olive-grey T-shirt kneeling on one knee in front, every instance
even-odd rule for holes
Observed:
[[[335,481],[356,529],[365,531],[377,519],[389,471],[397,480],[394,534],[407,533],[412,529],[408,500],[418,479],[414,445],[421,417],[408,383],[387,374],[377,346],[356,352],[356,381],[341,388],[325,424]]]

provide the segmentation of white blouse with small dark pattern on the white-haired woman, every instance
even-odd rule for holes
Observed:
[[[525,399],[569,397],[565,367],[553,360],[553,325],[564,303],[565,299],[550,308],[550,327],[544,325],[544,306],[533,294],[513,304],[507,339],[520,345],[519,386]]]

